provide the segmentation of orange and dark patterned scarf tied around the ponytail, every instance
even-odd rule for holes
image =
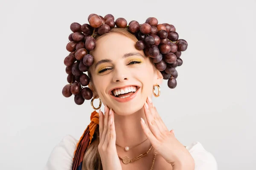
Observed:
[[[84,134],[81,136],[79,142],[76,145],[72,170],[82,170],[84,153],[92,142],[93,134],[96,128],[99,126],[99,113],[93,111],[93,113],[91,113],[90,120],[90,125],[88,125],[84,130]]]

